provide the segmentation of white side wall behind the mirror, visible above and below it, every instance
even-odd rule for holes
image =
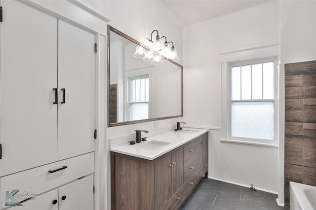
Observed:
[[[159,36],[166,36],[168,41],[173,41],[180,61],[183,61],[183,30],[182,26],[156,0],[79,0],[80,3],[110,19],[109,25],[131,36],[137,41],[151,47],[148,41],[153,30],[158,30]],[[104,26],[107,27],[106,25]],[[153,38],[156,37],[153,34]],[[181,119],[159,120],[158,127],[174,125]],[[110,182],[110,154],[109,138],[132,134],[135,129],[154,130],[154,121],[110,127],[107,137],[104,138],[104,148],[100,149],[101,157],[108,164],[108,173],[105,176],[104,200],[101,198],[101,208],[111,209],[111,182]],[[154,132],[151,132],[154,133]],[[102,161],[102,160],[101,160]],[[102,183],[101,183],[102,184]],[[102,196],[101,195],[101,196]]]

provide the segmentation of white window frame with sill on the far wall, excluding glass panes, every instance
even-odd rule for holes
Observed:
[[[264,62],[274,62],[274,99],[251,99],[251,100],[232,100],[231,99],[231,68],[238,65],[247,65]],[[235,101],[273,101],[274,102],[274,139],[254,139],[254,138],[243,138],[233,137],[231,135],[231,110],[232,102]],[[222,142],[233,142],[242,144],[253,144],[278,147],[278,126],[279,126],[279,105],[278,105],[278,58],[269,57],[264,59],[255,60],[243,60],[222,63]]]

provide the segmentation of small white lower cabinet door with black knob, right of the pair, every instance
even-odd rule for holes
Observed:
[[[58,189],[59,210],[93,210],[93,176]]]

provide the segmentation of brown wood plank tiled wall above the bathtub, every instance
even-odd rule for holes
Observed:
[[[289,182],[316,186],[316,61],[285,64],[285,206]]]

